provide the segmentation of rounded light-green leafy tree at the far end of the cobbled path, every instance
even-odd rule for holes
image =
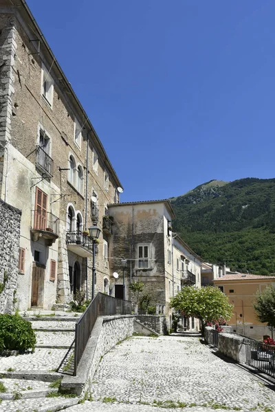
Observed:
[[[184,316],[197,317],[201,321],[202,335],[206,322],[219,321],[221,318],[228,321],[233,308],[228,297],[214,286],[185,286],[175,297],[170,298],[170,307],[179,310]]]

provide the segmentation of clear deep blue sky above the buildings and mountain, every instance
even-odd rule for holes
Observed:
[[[28,0],[121,201],[274,177],[274,0]]]

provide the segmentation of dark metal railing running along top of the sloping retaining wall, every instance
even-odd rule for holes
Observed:
[[[96,319],[99,316],[107,316],[113,314],[131,314],[131,301],[116,299],[104,293],[98,293],[91,301],[82,317],[76,322],[76,335],[74,347],[74,376],[80,359],[91,336],[91,331],[94,328]]]

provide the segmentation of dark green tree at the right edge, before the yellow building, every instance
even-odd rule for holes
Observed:
[[[258,291],[253,306],[259,321],[275,328],[275,288],[267,286],[262,293]]]

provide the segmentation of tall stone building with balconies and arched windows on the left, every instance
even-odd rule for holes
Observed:
[[[0,198],[22,210],[18,306],[50,309],[91,293],[91,239],[101,229],[96,292],[109,291],[108,204],[118,176],[32,13],[0,5]]]

